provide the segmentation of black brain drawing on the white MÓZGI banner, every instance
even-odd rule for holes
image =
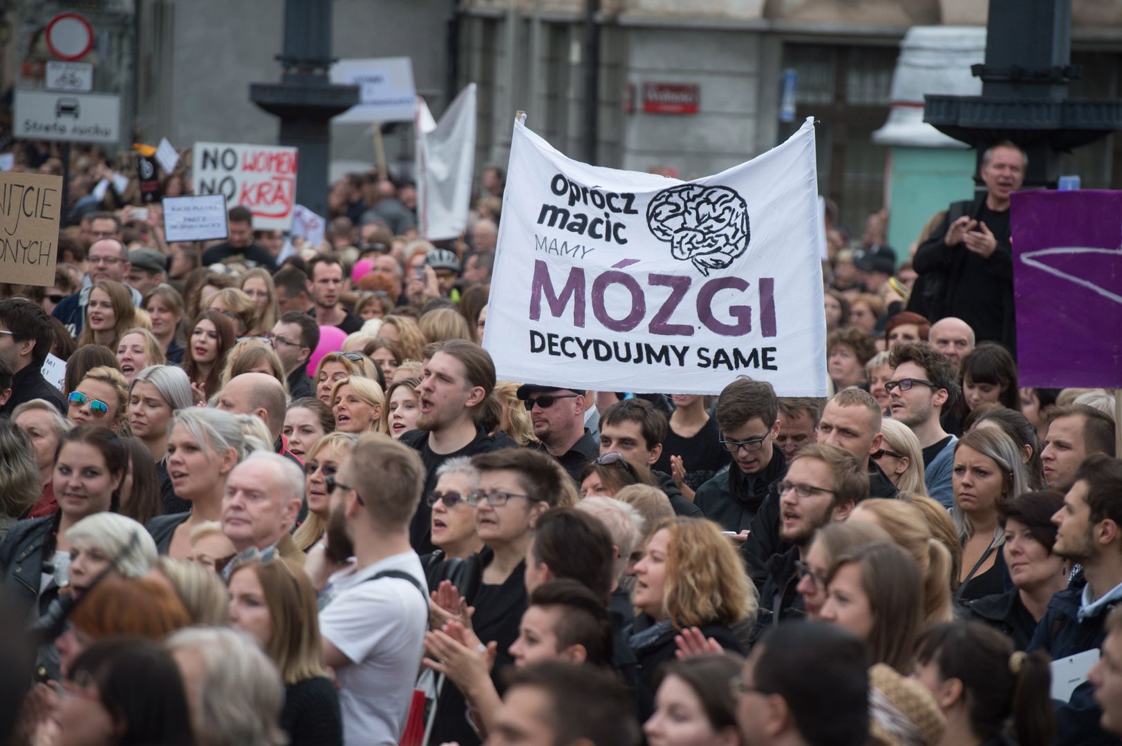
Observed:
[[[692,261],[706,277],[724,269],[748,248],[748,205],[727,186],[682,184],[654,195],[646,209],[651,232],[670,243],[670,254]]]

